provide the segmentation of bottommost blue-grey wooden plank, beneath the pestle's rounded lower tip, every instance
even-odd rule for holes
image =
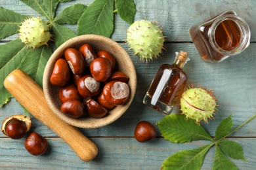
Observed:
[[[48,138],[49,148],[43,156],[32,156],[24,140],[0,140],[0,168],[7,169],[160,169],[161,163],[180,150],[198,148],[207,141],[175,144],[162,138],[138,143],[133,138],[92,138],[99,152],[90,162],[81,161],[61,139]],[[230,139],[241,144],[247,161],[233,160],[238,169],[254,169],[256,139]],[[205,156],[202,169],[211,169],[215,146]]]

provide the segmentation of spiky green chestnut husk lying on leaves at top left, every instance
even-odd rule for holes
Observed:
[[[47,42],[51,39],[49,25],[38,17],[24,20],[19,31],[20,40],[30,48],[47,45]]]

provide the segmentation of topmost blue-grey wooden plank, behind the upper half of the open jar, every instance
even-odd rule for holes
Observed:
[[[70,5],[75,3],[81,3],[84,5],[90,5],[93,0],[83,1],[74,0],[70,2],[60,3],[56,14]],[[158,21],[161,27],[163,27],[164,35],[167,37],[168,41],[188,41],[191,42],[188,30],[194,24],[201,22],[219,12],[223,12],[227,9],[235,10],[241,18],[251,27],[251,41],[255,41],[256,32],[253,31],[256,28],[255,16],[256,11],[253,7],[256,6],[256,1],[201,1],[195,0],[191,3],[190,0],[184,1],[135,1],[137,6],[137,13],[135,15],[135,20],[152,20]],[[15,5],[13,5],[15,4]],[[0,1],[0,6],[7,9],[14,10],[20,14],[26,14],[29,16],[38,16],[38,14],[27,7],[18,0]],[[76,25],[68,25],[70,29],[76,32]],[[126,39],[126,30],[129,24],[121,20],[119,15],[115,15],[115,27],[112,39],[115,41],[124,41]],[[9,39],[16,39],[17,35],[9,37]]]

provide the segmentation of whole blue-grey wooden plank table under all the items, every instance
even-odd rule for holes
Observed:
[[[90,5],[93,0],[74,0],[61,3],[58,12],[82,3]],[[43,156],[32,156],[24,148],[25,138],[12,140],[0,134],[0,169],[160,169],[161,163],[179,150],[197,148],[207,141],[175,144],[165,141],[157,130],[156,139],[148,143],[138,143],[134,138],[135,126],[141,120],[152,124],[159,122],[164,115],[142,104],[142,99],[156,71],[163,63],[172,63],[175,52],[188,52],[189,61],[184,71],[192,84],[214,90],[217,96],[218,111],[215,120],[202,123],[205,130],[214,137],[219,122],[233,114],[234,128],[256,113],[256,1],[247,0],[135,0],[137,13],[135,20],[146,18],[158,21],[163,27],[166,51],[161,59],[142,63],[133,57],[127,44],[126,30],[129,24],[115,16],[112,39],[128,50],[137,71],[137,91],[131,107],[116,122],[96,129],[79,129],[98,146],[98,155],[90,162],[81,161],[73,150],[58,135],[44,124],[33,118],[32,131],[40,133],[49,141],[49,148]],[[37,13],[18,0],[0,0],[0,6],[20,14],[37,16]],[[198,22],[224,10],[235,10],[251,28],[251,44],[239,54],[221,63],[206,63],[200,58],[190,39],[189,28]],[[76,30],[76,25],[69,25]],[[13,35],[0,41],[1,44],[18,38]],[[1,95],[1,94],[0,94]],[[23,114],[24,110],[15,99],[0,109],[0,122],[12,114]],[[238,169],[255,169],[256,166],[256,119],[228,137],[242,145],[244,160],[232,160]],[[211,169],[215,157],[215,148],[211,148],[203,161],[202,169]]]

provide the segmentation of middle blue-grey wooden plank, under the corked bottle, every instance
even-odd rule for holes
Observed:
[[[122,45],[125,49],[128,48],[126,44]],[[228,58],[221,63],[206,63],[202,61],[192,43],[167,43],[166,48],[167,51],[164,52],[161,59],[151,61],[150,63],[142,63],[139,61],[139,58],[132,57],[137,70],[137,92],[131,107],[119,120],[106,127],[81,129],[81,131],[89,137],[97,135],[110,137],[133,136],[135,126],[140,120],[148,120],[152,124],[159,122],[164,115],[143,105],[142,99],[160,65],[172,63],[175,52],[179,50],[188,52],[191,58],[191,61],[188,61],[184,66],[184,71],[188,74],[190,83],[200,84],[203,87],[213,89],[213,94],[219,99],[217,101],[219,111],[216,112],[215,120],[210,120],[209,124],[202,123],[202,126],[212,136],[215,135],[215,129],[219,122],[230,114],[233,114],[234,127],[240,126],[240,124],[255,114],[256,77],[253,68],[256,65],[254,59],[256,44],[251,44],[242,54]],[[130,50],[129,55],[132,56]],[[18,112],[23,112],[23,110],[16,101],[12,100],[0,109],[0,122],[11,114]],[[252,120],[232,136],[255,137],[256,127],[253,126],[255,122],[256,119]],[[35,119],[33,119],[32,127],[39,129],[43,135],[56,136]],[[3,134],[1,136],[3,137]],[[160,136],[160,133],[158,133],[158,136]]]

